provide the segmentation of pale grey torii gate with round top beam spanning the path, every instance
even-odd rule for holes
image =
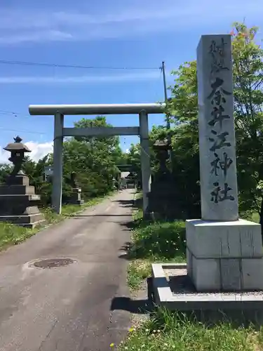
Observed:
[[[52,206],[57,213],[61,213],[62,199],[62,151],[65,136],[112,136],[112,135],[140,135],[143,211],[146,214],[150,191],[151,168],[149,159],[149,126],[148,114],[161,114],[165,104],[114,104],[114,105],[29,105],[31,115],[53,115],[54,119],[54,147],[53,147],[53,184]],[[135,127],[91,127],[65,128],[64,116],[67,114],[139,114],[140,126]]]

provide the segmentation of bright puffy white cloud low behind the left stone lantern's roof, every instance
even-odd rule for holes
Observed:
[[[46,156],[49,152],[53,152],[53,141],[47,143],[35,143],[34,141],[29,141],[25,143],[29,150],[28,155],[33,161],[39,161],[42,157]],[[6,164],[8,158],[10,157],[10,152],[3,150],[3,147],[0,147],[0,164]]]

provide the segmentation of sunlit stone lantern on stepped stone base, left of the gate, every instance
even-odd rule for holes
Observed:
[[[0,186],[0,221],[34,227],[43,222],[44,217],[37,207],[40,196],[34,193],[34,187],[29,185],[29,178],[22,171],[25,152],[31,151],[21,142],[22,139],[17,136],[14,143],[4,147],[11,152],[9,161],[14,167],[6,184]]]

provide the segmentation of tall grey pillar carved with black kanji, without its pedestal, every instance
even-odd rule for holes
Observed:
[[[238,220],[231,36],[204,35],[197,49],[203,220]]]

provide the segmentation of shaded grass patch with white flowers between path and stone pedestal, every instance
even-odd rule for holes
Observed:
[[[144,220],[142,211],[133,215],[131,246],[127,258],[128,285],[136,290],[151,275],[151,263],[185,261],[185,224]]]

